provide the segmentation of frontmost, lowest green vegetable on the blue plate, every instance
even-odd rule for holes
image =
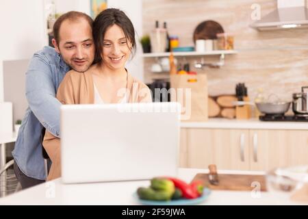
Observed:
[[[139,198],[152,201],[169,201],[172,194],[164,190],[153,190],[153,188],[140,187],[137,190]]]

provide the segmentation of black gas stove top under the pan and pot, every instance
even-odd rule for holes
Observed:
[[[308,115],[265,114],[259,116],[259,120],[266,122],[308,122]]]

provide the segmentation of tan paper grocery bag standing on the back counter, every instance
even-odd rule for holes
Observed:
[[[207,115],[207,75],[170,75],[171,101],[181,103],[181,120],[205,121]]]

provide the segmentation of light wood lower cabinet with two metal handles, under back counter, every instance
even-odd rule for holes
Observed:
[[[270,170],[308,164],[308,131],[181,129],[180,166],[225,170]]]

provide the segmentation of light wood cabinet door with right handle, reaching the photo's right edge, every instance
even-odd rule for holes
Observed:
[[[250,130],[251,170],[308,164],[308,131]]]

